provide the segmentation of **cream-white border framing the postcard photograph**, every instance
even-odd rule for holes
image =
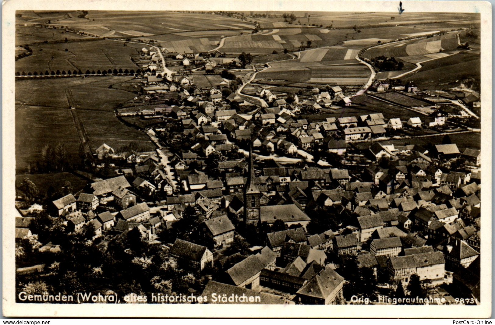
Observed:
[[[487,1],[412,1],[409,12],[481,13],[482,165],[481,201],[483,260],[481,305],[210,305],[210,304],[20,304],[15,303],[15,141],[14,38],[15,10],[254,10],[254,11],[390,11],[399,0],[5,0],[2,14],[2,185],[3,185],[3,315],[11,317],[256,317],[256,318],[489,318],[492,307],[492,6]]]

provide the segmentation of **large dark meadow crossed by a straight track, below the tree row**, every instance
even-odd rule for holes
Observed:
[[[130,141],[152,147],[146,134],[125,126],[113,112],[118,103],[135,94],[108,89],[108,86],[130,79],[132,77],[79,77],[16,81],[16,168],[24,169],[34,163],[43,145],[58,142],[65,143],[74,162],[78,162],[80,140],[71,106],[77,108],[92,149],[103,142],[120,147]],[[70,89],[69,96],[72,94],[70,104],[65,89]]]

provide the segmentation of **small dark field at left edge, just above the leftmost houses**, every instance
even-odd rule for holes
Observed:
[[[15,175],[15,188],[18,188],[24,178],[33,182],[42,194],[45,194],[50,186],[55,190],[64,186],[65,182],[70,182],[74,192],[82,190],[88,181],[72,173],[50,173],[50,174],[17,174]]]

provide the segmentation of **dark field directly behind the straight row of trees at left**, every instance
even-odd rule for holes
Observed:
[[[32,46],[33,54],[15,64],[16,72],[45,73],[45,71],[133,69],[139,67],[130,56],[138,54],[139,44],[121,42],[88,41]],[[67,51],[65,51],[67,49]]]

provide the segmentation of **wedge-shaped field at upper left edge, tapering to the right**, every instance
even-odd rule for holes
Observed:
[[[67,40],[80,40],[88,38],[87,36],[67,33],[60,29],[49,29],[34,26],[16,26],[15,27],[15,45],[33,44],[41,42],[53,42]]]

